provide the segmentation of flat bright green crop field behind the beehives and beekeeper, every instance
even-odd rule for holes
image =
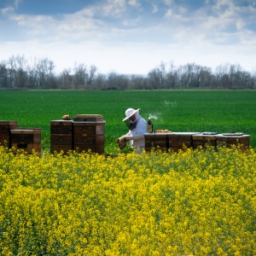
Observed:
[[[255,90],[1,90],[0,106],[0,120],[43,129],[43,151],[49,151],[50,120],[97,113],[106,120],[105,152],[117,152],[126,108],[152,116],[154,130],[243,132],[256,146]]]

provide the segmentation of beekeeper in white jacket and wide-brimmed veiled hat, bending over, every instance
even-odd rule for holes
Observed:
[[[121,143],[123,143],[123,147],[125,147],[125,142],[129,141],[131,148],[140,154],[145,148],[144,133],[147,132],[147,122],[139,114],[139,110],[140,108],[137,110],[134,108],[126,109],[125,119],[123,119],[123,121],[128,126],[129,131],[124,136],[119,137],[118,143],[119,147],[122,148]]]

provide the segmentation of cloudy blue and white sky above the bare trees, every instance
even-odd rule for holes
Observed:
[[[256,72],[256,0],[0,0],[0,61],[47,57],[101,73],[161,62]]]

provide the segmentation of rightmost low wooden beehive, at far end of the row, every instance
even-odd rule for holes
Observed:
[[[218,134],[216,136],[216,145],[217,147],[227,147],[231,146],[240,146],[241,149],[249,148],[250,136],[242,133],[224,133]]]

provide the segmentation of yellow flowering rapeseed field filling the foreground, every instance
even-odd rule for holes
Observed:
[[[256,150],[13,154],[1,255],[256,255]]]

